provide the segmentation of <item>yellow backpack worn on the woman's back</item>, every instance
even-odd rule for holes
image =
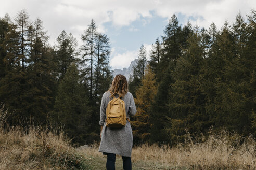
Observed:
[[[119,97],[114,97],[111,101],[109,101],[107,109],[106,109],[106,126],[120,128],[125,126],[126,124],[126,112],[125,112],[125,104],[124,101]],[[130,121],[128,119],[128,121]]]

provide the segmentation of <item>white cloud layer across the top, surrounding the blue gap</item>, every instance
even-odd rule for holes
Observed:
[[[0,16],[3,17],[8,12],[11,17],[14,17],[23,8],[27,9],[31,19],[40,17],[44,21],[45,28],[49,30],[50,43],[53,43],[62,30],[68,33],[72,31],[74,36],[80,38],[91,19],[95,20],[101,32],[107,31],[103,23],[108,21],[112,21],[116,28],[121,28],[141,19],[140,17],[147,17],[148,21],[141,19],[145,25],[153,17],[150,11],[155,11],[156,15],[167,18],[171,18],[173,13],[181,13],[185,16],[183,24],[187,23],[190,16],[198,16],[197,20],[191,23],[208,28],[214,22],[220,29],[225,19],[232,24],[239,10],[242,16],[246,17],[250,9],[256,8],[256,1],[149,0],[145,3],[143,0],[8,0],[1,3]]]

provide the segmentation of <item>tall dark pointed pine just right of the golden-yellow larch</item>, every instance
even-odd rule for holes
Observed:
[[[156,74],[158,92],[150,110],[150,123],[152,124],[150,140],[152,142],[168,140],[164,131],[164,124],[166,117],[169,116],[167,105],[170,97],[169,91],[172,90],[169,87],[174,83],[171,73],[182,53],[182,45],[184,45],[184,39],[186,39],[183,36],[181,26],[174,14],[165,26],[164,36],[162,36],[162,55],[160,57],[159,73]]]

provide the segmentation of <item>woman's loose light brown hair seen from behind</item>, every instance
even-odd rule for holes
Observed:
[[[123,97],[128,92],[126,78],[121,74],[116,75],[108,91],[111,94],[110,97],[114,97],[117,94],[120,95],[120,97]]]

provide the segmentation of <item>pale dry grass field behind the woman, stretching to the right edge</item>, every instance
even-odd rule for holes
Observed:
[[[84,150],[92,157],[104,157],[98,152],[99,144]],[[157,144],[135,146],[132,162],[156,163],[161,169],[256,169],[256,143],[252,137],[242,138],[235,133],[221,131],[210,134],[202,143],[193,143],[189,133],[185,144],[175,147]]]

